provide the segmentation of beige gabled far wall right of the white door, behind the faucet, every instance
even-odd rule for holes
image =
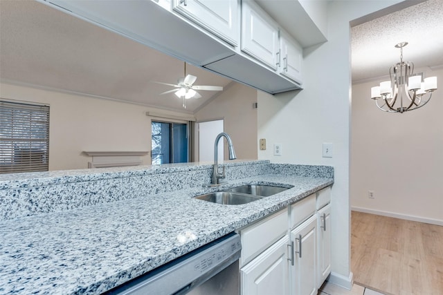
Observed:
[[[224,119],[224,132],[233,140],[237,159],[255,160],[258,144],[257,108],[253,108],[254,102],[257,102],[254,88],[233,82],[217,98],[197,111],[195,116],[197,122]],[[227,153],[225,159],[228,159]]]

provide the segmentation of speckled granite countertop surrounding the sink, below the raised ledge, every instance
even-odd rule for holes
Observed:
[[[242,184],[293,188],[242,205],[192,198]],[[258,175],[0,221],[0,294],[99,294],[333,183]]]

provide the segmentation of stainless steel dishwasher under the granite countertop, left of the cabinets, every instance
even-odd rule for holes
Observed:
[[[231,233],[105,294],[239,294],[241,249],[240,236]]]

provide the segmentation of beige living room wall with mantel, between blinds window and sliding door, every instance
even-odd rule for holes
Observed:
[[[151,151],[151,119],[145,113],[183,115],[11,84],[0,84],[0,97],[50,105],[49,170],[87,168],[91,157],[82,151]],[[143,164],[150,157],[142,157]]]

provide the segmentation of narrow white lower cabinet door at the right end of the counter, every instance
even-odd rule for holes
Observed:
[[[317,212],[317,287],[325,282],[331,272],[331,205],[328,204]]]

